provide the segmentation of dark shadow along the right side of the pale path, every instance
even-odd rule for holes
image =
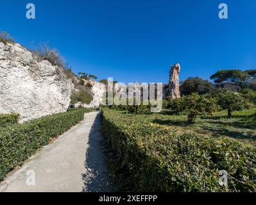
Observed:
[[[89,145],[85,152],[85,168],[81,174],[83,192],[112,192],[107,172],[107,143],[101,133],[102,115],[98,112],[89,134]]]

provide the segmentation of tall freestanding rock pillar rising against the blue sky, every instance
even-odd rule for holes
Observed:
[[[176,99],[180,97],[179,74],[180,64],[176,63],[170,69],[169,97],[171,97],[171,99]]]

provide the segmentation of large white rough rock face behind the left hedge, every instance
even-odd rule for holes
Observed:
[[[0,42],[0,113],[19,113],[20,122],[61,113],[73,89],[60,67],[19,44]]]

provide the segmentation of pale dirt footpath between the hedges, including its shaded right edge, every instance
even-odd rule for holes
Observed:
[[[28,172],[35,186],[28,186]],[[0,184],[0,192],[111,192],[101,113],[85,119],[31,157]]]

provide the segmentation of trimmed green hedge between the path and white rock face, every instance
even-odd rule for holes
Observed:
[[[37,149],[83,120],[90,110],[74,109],[0,129],[0,181]]]

